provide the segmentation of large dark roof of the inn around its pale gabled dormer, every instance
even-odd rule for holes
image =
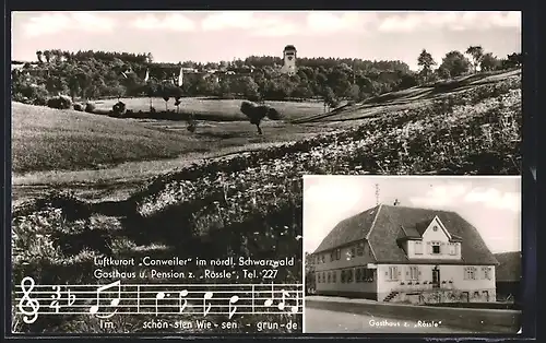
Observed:
[[[408,262],[404,249],[399,246],[397,241],[400,239],[420,237],[425,224],[429,224],[436,216],[454,238],[452,240],[461,241],[461,263],[498,263],[477,229],[459,214],[449,211],[384,204],[342,221],[322,240],[314,252],[330,250],[355,240],[367,239],[377,262]],[[453,261],[449,263],[453,263]]]

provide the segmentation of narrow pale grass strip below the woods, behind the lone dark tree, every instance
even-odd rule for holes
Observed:
[[[136,97],[136,98],[121,98],[127,105],[128,109],[133,111],[150,111],[150,98],[149,97]],[[240,111],[240,99],[212,99],[212,98],[199,98],[199,97],[185,97],[181,98],[181,104],[179,106],[180,114],[193,114],[195,116],[202,117],[206,120],[214,121],[247,121],[247,117]],[[109,110],[118,102],[115,99],[96,100],[97,109]],[[166,109],[170,111],[176,111],[175,99],[170,98],[167,103],[161,97],[152,99],[153,106],[157,111],[165,111]],[[299,119],[307,116],[322,114],[324,111],[323,105],[320,102],[266,102],[265,104],[277,109],[283,119],[293,120]],[[166,107],[167,105],[167,107]]]

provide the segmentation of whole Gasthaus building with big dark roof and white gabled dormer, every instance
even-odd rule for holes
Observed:
[[[498,264],[454,212],[378,205],[339,223],[313,252],[317,294],[379,301],[495,301]]]

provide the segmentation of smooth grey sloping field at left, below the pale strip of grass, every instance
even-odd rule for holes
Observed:
[[[198,123],[191,133],[185,121],[117,119],[13,103],[12,168],[16,175],[104,169],[187,154],[226,154],[249,144],[300,139],[314,130],[271,120],[262,127],[265,134],[260,137],[248,120],[211,121]]]

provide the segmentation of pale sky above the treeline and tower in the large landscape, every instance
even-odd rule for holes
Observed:
[[[13,12],[12,60],[36,50],[152,52],[156,61],[218,62],[248,56],[402,60],[417,69],[480,45],[498,57],[521,52],[521,12],[163,11]]]

